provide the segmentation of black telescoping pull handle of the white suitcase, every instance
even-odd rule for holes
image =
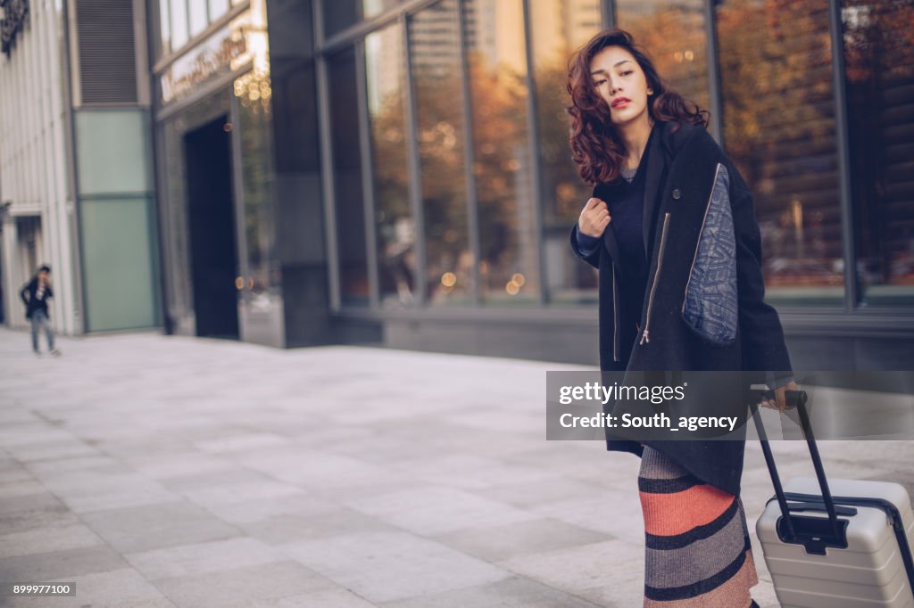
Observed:
[[[763,397],[770,395],[770,392],[766,389],[753,389],[751,394],[754,397],[758,397],[758,402]],[[819,480],[819,487],[822,490],[822,498],[825,503],[825,510],[828,511],[828,520],[831,523],[832,535],[835,541],[840,542],[840,539],[843,538],[842,527],[838,522],[838,516],[834,508],[834,499],[832,498],[832,493],[828,489],[828,480],[825,478],[825,470],[822,466],[822,458],[819,456],[819,448],[815,445],[815,437],[813,437],[813,425],[809,421],[809,412],[806,410],[806,402],[808,401],[808,395],[805,391],[787,391],[784,394],[785,402],[788,405],[795,406],[797,408],[797,413],[800,414],[800,426],[802,429],[802,435],[806,439],[806,445],[809,446],[809,454],[813,458],[813,467],[815,468],[815,477]],[[761,451],[765,455],[765,464],[768,465],[768,472],[771,474],[771,484],[774,486],[774,493],[778,498],[778,505],[781,507],[781,515],[783,518],[784,529],[787,533],[788,540],[797,542],[799,541],[796,531],[793,528],[793,520],[791,518],[791,509],[787,504],[787,497],[784,495],[784,488],[781,486],[781,477],[778,475],[778,468],[774,464],[774,456],[771,454],[771,446],[768,445],[768,435],[765,433],[765,425],[761,422],[761,416],[759,414],[759,407],[752,405],[752,421],[755,423],[756,430],[759,433],[759,440],[761,443]]]

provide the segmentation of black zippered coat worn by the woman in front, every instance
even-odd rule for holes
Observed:
[[[654,129],[643,221],[650,268],[637,327],[617,322],[614,303],[626,285],[610,228],[602,245],[583,258],[600,270],[600,369],[786,375],[792,367],[781,321],[763,301],[761,238],[749,187],[701,125],[658,121]],[[592,195],[611,207],[620,185],[600,183]],[[579,255],[577,225],[571,248]],[[643,444],[739,494],[744,440]],[[610,438],[607,449],[643,451],[639,442]]]

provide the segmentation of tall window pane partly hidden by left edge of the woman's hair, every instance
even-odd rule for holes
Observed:
[[[600,31],[600,3],[530,0],[529,4],[549,299],[557,304],[595,302],[597,272],[569,249],[569,231],[592,188],[581,181],[571,161],[566,84],[569,57]]]

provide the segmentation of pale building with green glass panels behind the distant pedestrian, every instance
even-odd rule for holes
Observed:
[[[58,331],[161,326],[143,0],[4,0],[0,285],[52,269]]]

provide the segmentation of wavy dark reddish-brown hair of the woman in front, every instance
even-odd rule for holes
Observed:
[[[569,59],[568,92],[571,105],[566,109],[571,116],[569,143],[571,158],[578,165],[578,173],[590,185],[612,182],[619,177],[625,146],[611,121],[611,111],[606,101],[593,85],[590,61],[606,47],[623,47],[635,58],[644,71],[649,89],[648,115],[654,121],[677,121],[701,124],[707,129],[709,112],[685,98],[664,82],[657,74],[654,63],[641,47],[635,45],[632,35],[625,30],[603,30]],[[675,130],[679,127],[676,126]]]

